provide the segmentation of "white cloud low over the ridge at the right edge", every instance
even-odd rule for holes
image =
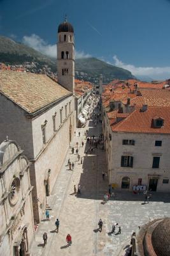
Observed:
[[[117,56],[113,56],[115,66],[125,68],[132,72],[134,76],[150,76],[153,79],[167,79],[170,77],[170,67],[135,67],[131,64],[125,64],[118,60]]]

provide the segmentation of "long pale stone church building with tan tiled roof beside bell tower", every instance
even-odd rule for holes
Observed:
[[[2,70],[0,79],[0,140],[15,138],[32,163],[39,222],[74,134],[74,96],[45,75]]]

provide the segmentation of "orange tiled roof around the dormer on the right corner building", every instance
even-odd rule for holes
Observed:
[[[170,108],[148,107],[145,112],[136,108],[127,118],[111,125],[114,132],[144,132],[170,134]],[[153,118],[163,118],[164,125],[160,128],[153,127]]]

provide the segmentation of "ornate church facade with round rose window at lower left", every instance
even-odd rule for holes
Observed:
[[[15,141],[0,145],[0,255],[26,256],[34,234],[30,165]]]

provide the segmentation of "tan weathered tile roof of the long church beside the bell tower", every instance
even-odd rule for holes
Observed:
[[[8,70],[0,70],[0,93],[28,113],[72,94],[48,76]]]

